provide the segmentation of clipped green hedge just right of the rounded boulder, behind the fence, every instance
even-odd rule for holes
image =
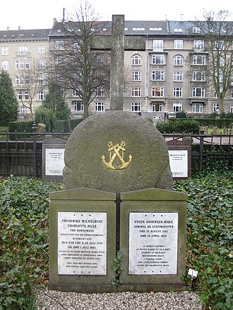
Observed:
[[[171,118],[168,123],[157,123],[156,128],[161,133],[199,133],[199,123],[187,118]]]

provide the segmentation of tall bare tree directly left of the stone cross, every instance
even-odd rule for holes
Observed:
[[[87,1],[68,19],[54,25],[60,39],[54,37],[49,49],[49,82],[76,92],[83,101],[85,119],[97,90],[109,89],[109,54],[91,50],[92,36],[102,34],[103,22],[97,21]]]

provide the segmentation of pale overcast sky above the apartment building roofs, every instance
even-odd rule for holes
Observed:
[[[122,14],[125,20],[203,20],[203,11],[227,10],[233,13],[233,3],[229,0],[89,0],[99,20],[112,20],[112,15]],[[53,20],[62,20],[78,11],[79,0],[8,0],[1,7],[0,30],[49,29]],[[230,20],[233,20],[233,15]]]

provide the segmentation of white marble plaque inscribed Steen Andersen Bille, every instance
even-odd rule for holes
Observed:
[[[129,213],[129,274],[177,274],[178,213]]]

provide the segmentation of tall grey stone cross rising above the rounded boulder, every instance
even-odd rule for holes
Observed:
[[[124,106],[124,51],[145,51],[145,38],[124,35],[124,15],[112,16],[112,35],[92,37],[92,49],[111,50],[110,109]]]

